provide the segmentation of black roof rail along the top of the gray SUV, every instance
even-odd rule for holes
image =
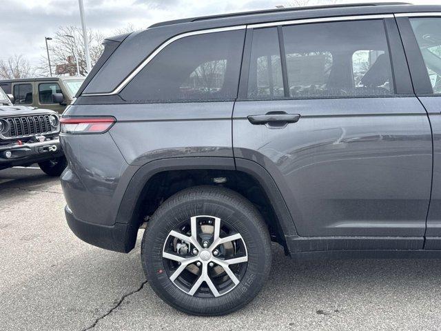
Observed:
[[[300,10],[313,10],[313,9],[329,9],[329,8],[347,8],[347,7],[366,7],[366,6],[399,6],[399,5],[411,5],[408,2],[377,2],[377,3],[340,3],[334,5],[325,6],[305,6],[305,7],[288,7],[288,8],[275,8],[267,10],[253,10],[249,12],[233,12],[230,14],[220,14],[220,15],[209,15],[202,17],[189,17],[187,19],[175,19],[172,21],[164,21],[160,23],[155,23],[149,28],[156,28],[158,26],[171,26],[178,23],[189,23],[196,21],[205,21],[207,19],[225,19],[228,17],[238,17],[245,15],[255,15],[255,14],[267,14],[273,12],[289,12],[289,11],[300,11]]]

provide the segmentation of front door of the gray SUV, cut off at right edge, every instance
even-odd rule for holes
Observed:
[[[441,249],[441,16],[398,15],[418,98],[433,130],[433,187],[427,215],[427,249]]]

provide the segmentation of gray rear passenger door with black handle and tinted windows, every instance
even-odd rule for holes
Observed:
[[[302,237],[364,236],[372,248],[378,237],[413,237],[421,248],[431,129],[396,22],[319,21],[248,27],[236,164],[252,160],[271,174]]]

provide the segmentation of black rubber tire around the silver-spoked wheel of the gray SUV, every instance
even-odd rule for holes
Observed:
[[[245,243],[245,272],[238,278],[240,282],[220,297],[183,292],[165,272],[163,249],[170,231],[196,215],[218,217],[220,224],[234,227]],[[271,269],[271,241],[260,213],[247,199],[226,188],[198,186],[174,194],[156,210],[144,232],[141,260],[150,286],[172,307],[187,314],[224,315],[243,308],[263,287]]]

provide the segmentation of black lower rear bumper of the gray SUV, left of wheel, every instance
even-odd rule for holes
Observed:
[[[132,225],[114,223],[107,226],[84,222],[77,219],[67,205],[64,212],[70,230],[86,243],[122,253],[128,253],[134,248],[138,229]]]

